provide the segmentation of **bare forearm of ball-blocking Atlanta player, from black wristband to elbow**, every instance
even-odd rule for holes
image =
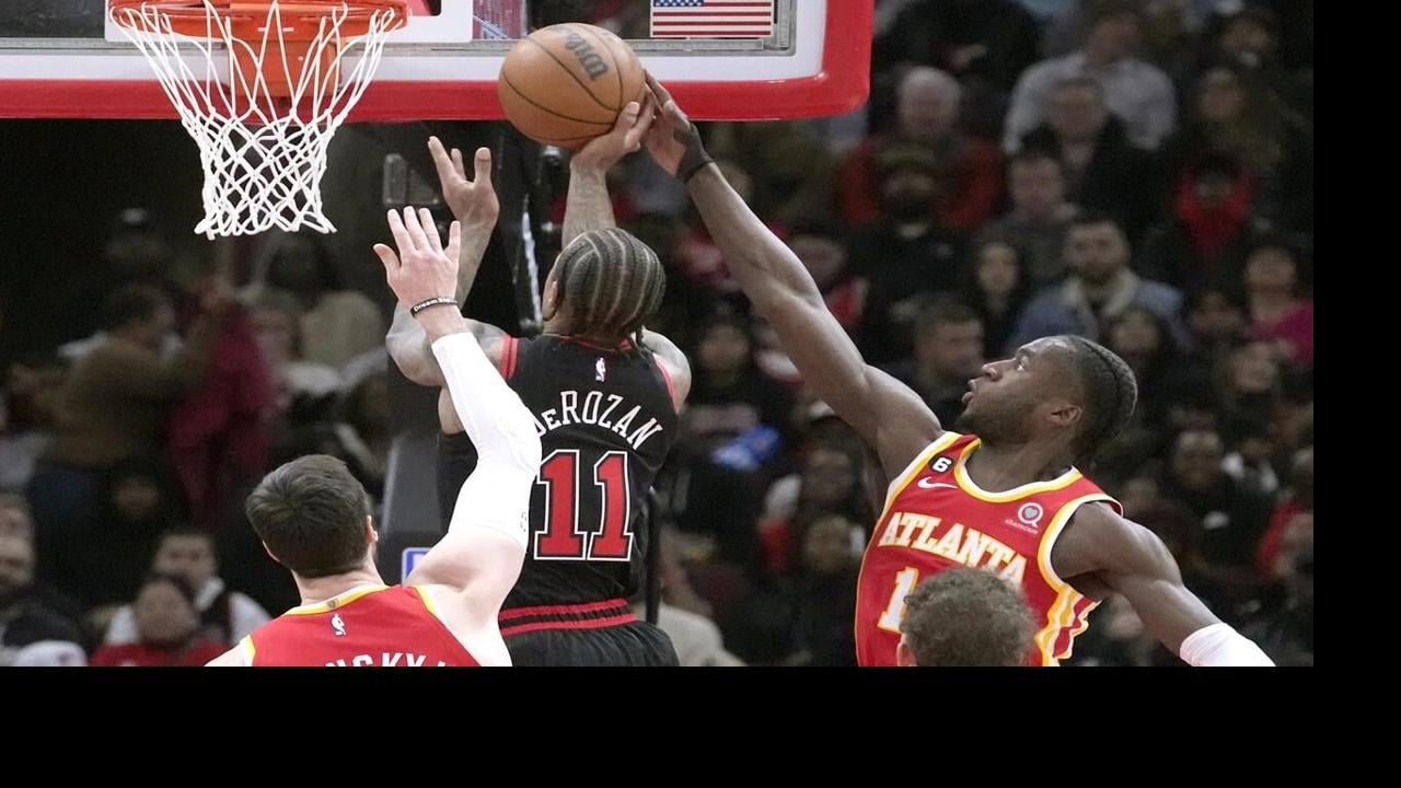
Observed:
[[[724,254],[726,265],[759,310],[785,297],[821,301],[813,276],[797,255],[754,215],[719,167],[708,164],[686,188],[710,237]]]

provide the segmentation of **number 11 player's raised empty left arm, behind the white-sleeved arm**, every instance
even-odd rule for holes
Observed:
[[[482,266],[482,255],[492,240],[492,230],[496,227],[496,217],[500,215],[500,203],[496,191],[492,188],[492,151],[485,147],[476,149],[474,161],[474,179],[467,179],[467,168],[462,164],[462,151],[453,149],[451,156],[437,137],[429,137],[429,151],[437,167],[439,182],[443,198],[453,216],[462,227],[462,244],[458,251],[458,273],[454,296],[458,307],[467,303],[467,296],[472,292],[476,272]],[[432,224],[429,224],[432,227]],[[495,325],[488,325],[475,320],[468,321],[468,328],[476,334],[478,342],[493,363],[500,362],[502,341],[506,332]],[[399,367],[405,377],[419,386],[443,387],[443,370],[439,369],[433,349],[429,346],[427,335],[403,304],[395,304],[394,321],[389,332],[384,338],[384,346],[389,358]]]

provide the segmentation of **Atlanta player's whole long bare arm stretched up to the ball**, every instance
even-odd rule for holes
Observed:
[[[906,386],[866,363],[813,276],[730,188],[671,94],[650,76],[647,84],[658,108],[647,150],[686,184],[726,264],[803,380],[876,447],[888,474],[901,471],[943,432],[939,419]]]

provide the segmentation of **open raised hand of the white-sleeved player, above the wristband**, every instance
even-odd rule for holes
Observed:
[[[462,247],[462,224],[448,229],[447,248],[426,208],[405,208],[403,217],[389,212],[389,231],[399,247],[398,254],[384,244],[374,245],[374,254],[384,264],[384,278],[405,308],[429,299],[451,299],[457,293],[457,255]]]

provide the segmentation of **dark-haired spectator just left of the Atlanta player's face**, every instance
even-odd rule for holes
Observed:
[[[934,300],[915,321],[913,356],[888,365],[895,380],[909,386],[940,423],[953,425],[962,415],[968,381],[978,377],[986,360],[982,320],[968,306]]]

